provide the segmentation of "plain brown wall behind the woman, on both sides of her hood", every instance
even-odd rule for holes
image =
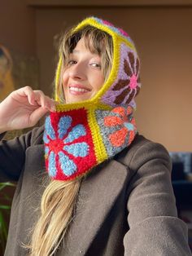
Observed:
[[[136,43],[142,62],[135,115],[138,130],[169,151],[192,151],[192,8],[37,9],[41,88],[48,94],[55,73],[53,38],[86,15],[122,26]]]

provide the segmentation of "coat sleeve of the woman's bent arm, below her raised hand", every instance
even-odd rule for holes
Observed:
[[[0,135],[0,182],[18,181],[24,167],[25,151],[30,147],[41,128],[35,127],[20,137],[6,140]]]

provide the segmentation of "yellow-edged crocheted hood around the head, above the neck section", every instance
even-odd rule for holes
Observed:
[[[76,33],[86,25],[91,25],[111,35],[113,42],[111,73],[101,90],[92,99],[76,105],[68,104],[68,108],[89,106],[89,104],[99,104],[101,108],[106,105],[113,108],[131,105],[133,108],[136,108],[134,98],[140,90],[141,83],[139,77],[139,59],[132,39],[123,29],[116,28],[108,21],[96,17],[89,17],[82,20],[75,29],[72,29],[72,33]],[[62,61],[60,58],[55,79],[55,100],[59,99],[56,89],[59,86],[61,65]]]

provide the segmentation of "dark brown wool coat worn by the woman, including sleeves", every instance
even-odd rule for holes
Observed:
[[[44,127],[0,142],[2,180],[18,180],[11,208],[6,256],[24,256],[41,201],[45,174]],[[0,136],[1,137],[1,136]],[[142,135],[81,183],[73,219],[57,256],[185,256],[187,227],[179,218],[166,149]]]

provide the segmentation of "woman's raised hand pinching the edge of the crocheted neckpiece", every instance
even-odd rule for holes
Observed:
[[[35,126],[49,111],[55,111],[55,100],[41,90],[30,86],[14,90],[0,104],[0,133]]]

